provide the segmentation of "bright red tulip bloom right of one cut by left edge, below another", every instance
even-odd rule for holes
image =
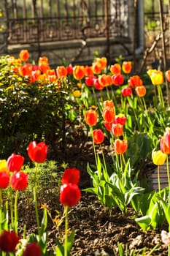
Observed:
[[[15,190],[24,190],[28,185],[28,174],[23,172],[14,172],[10,181],[11,187]]]

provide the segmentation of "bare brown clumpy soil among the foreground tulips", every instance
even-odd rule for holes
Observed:
[[[87,148],[87,147],[86,147]],[[90,151],[89,151],[90,148]],[[75,161],[74,154],[70,151],[70,164]],[[78,154],[77,160],[80,165],[93,162],[93,151],[88,145],[88,151]],[[74,161],[73,161],[74,160]],[[90,186],[90,177],[86,169],[81,169],[80,188],[82,197],[80,203],[69,209],[69,230],[75,230],[74,245],[72,256],[118,256],[118,243],[127,248],[126,256],[130,255],[149,255],[156,244],[158,248],[151,255],[167,255],[167,247],[161,242],[161,230],[142,231],[136,224],[135,213],[132,208],[128,208],[128,215],[123,216],[118,208],[113,209],[112,214],[104,209],[95,195],[83,192],[83,189]],[[59,203],[56,189],[49,189],[39,202],[39,208],[47,203],[47,208],[55,219],[61,219],[63,206]],[[42,215],[42,210],[39,210]],[[27,202],[26,198],[20,200],[18,206],[20,233],[23,233],[23,224],[26,224],[27,232],[36,232],[36,220],[34,214],[34,203]],[[57,222],[55,222],[57,223]],[[167,226],[162,227],[167,230]],[[63,238],[64,222],[60,227],[54,226],[52,220],[48,219],[47,233],[48,248],[55,247],[55,239]],[[146,252],[142,251],[146,247]],[[136,254],[132,254],[133,250]],[[123,255],[123,254],[122,254]]]

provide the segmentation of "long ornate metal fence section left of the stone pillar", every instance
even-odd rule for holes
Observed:
[[[128,0],[5,0],[8,45],[128,37]]]

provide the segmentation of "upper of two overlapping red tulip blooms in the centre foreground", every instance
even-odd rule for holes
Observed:
[[[67,168],[63,176],[61,178],[62,184],[78,184],[80,181],[80,170],[77,170],[76,168]]]

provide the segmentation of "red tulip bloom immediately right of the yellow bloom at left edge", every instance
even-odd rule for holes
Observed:
[[[22,157],[20,154],[13,153],[10,157],[7,159],[7,167],[10,172],[14,172],[15,170],[19,172],[21,167],[23,166],[25,158]]]

